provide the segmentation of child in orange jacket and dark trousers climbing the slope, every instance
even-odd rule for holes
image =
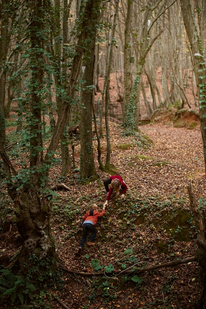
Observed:
[[[98,212],[97,210],[97,205],[96,204],[92,204],[91,208],[89,211],[86,212],[86,214],[83,216],[82,220],[83,220],[83,235],[82,235],[82,240],[80,242],[80,247],[78,250],[78,253],[80,254],[82,252],[82,248],[84,243],[86,242],[86,238],[88,236],[88,233],[91,232],[91,235],[88,239],[87,245],[88,246],[94,246],[95,243],[93,242],[97,230],[95,229],[95,225],[97,224],[98,218],[102,217],[105,213],[105,207],[103,206],[103,210],[102,212]]]

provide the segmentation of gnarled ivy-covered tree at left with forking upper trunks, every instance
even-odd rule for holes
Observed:
[[[48,172],[51,167],[53,155],[59,144],[65,128],[67,115],[70,111],[70,99],[74,97],[75,85],[81,69],[83,46],[86,32],[89,3],[84,3],[82,20],[79,24],[78,42],[72,62],[68,80],[67,100],[63,101],[58,111],[58,118],[47,151],[42,143],[41,114],[45,108],[44,72],[44,42],[45,27],[47,24],[46,0],[30,0],[27,2],[27,11],[31,12],[31,23],[28,27],[29,57],[27,72],[30,70],[31,78],[28,79],[28,96],[22,100],[23,109],[26,111],[24,118],[24,136],[29,143],[30,166],[18,174],[13,168],[3,148],[0,138],[0,155],[3,159],[7,175],[8,193],[14,201],[15,223],[23,239],[23,245],[17,257],[21,275],[27,277],[36,287],[41,288],[55,278],[56,268],[55,244],[50,229],[52,196],[48,188]],[[47,24],[48,25],[48,24]],[[45,156],[43,156],[43,150]],[[12,177],[12,174],[15,177]],[[41,262],[40,262],[41,261]]]

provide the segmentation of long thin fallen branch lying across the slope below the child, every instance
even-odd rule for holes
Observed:
[[[123,274],[123,273],[124,274],[142,273],[142,272],[157,270],[157,269],[165,268],[165,267],[174,267],[174,266],[177,266],[177,265],[187,264],[187,263],[191,263],[191,262],[195,262],[195,261],[196,261],[196,259],[193,256],[193,257],[190,257],[190,258],[175,260],[175,261],[166,262],[166,263],[163,263],[163,264],[146,266],[146,267],[139,269],[139,270],[119,270],[119,271],[116,272],[116,276],[118,276],[120,273],[121,274]],[[84,271],[69,270],[69,269],[63,268],[63,267],[60,267],[60,269],[65,271],[65,272],[69,272],[69,273],[73,273],[73,274],[77,274],[77,275],[81,275],[81,276],[100,276],[100,275],[103,275],[105,273],[104,271],[101,271],[101,272],[84,272]]]

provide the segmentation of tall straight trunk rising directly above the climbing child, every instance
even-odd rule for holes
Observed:
[[[82,89],[80,107],[80,175],[82,179],[95,175],[92,145],[92,104],[94,94],[94,53],[96,25],[100,14],[101,0],[90,1],[87,16],[87,36],[82,60]]]

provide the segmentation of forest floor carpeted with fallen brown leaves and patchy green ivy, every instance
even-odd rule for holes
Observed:
[[[52,168],[52,184],[64,182],[69,191],[56,192],[53,200],[51,227],[62,284],[52,291],[56,296],[50,308],[63,308],[57,298],[69,309],[198,308],[201,270],[196,262],[141,275],[129,273],[193,257],[197,249],[187,186],[193,184],[203,207],[206,179],[200,127],[175,128],[169,117],[160,117],[140,126],[141,138],[126,137],[120,125],[110,124],[111,163],[128,190],[124,199],[113,196],[97,223],[95,246],[85,245],[81,256],[77,251],[82,216],[92,203],[102,209],[106,198],[103,180],[110,173],[98,167],[95,137],[98,179],[85,183],[79,179],[79,145],[75,147],[76,167],[67,177],[60,176],[60,161]],[[101,147],[105,162],[105,131]],[[19,249],[18,239],[10,222],[9,229],[0,233],[0,255],[6,252],[11,258]]]

